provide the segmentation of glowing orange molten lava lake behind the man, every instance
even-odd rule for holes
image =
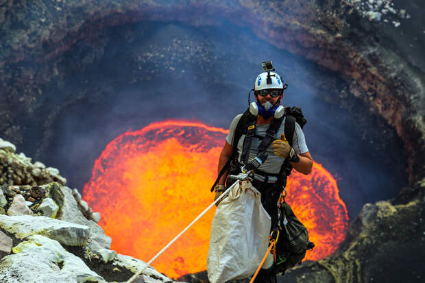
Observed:
[[[111,249],[150,260],[213,201],[210,186],[228,130],[189,121],[152,123],[112,140],[96,160],[84,199],[101,212]],[[345,236],[348,214],[337,182],[315,163],[293,173],[287,202],[309,230],[311,260],[331,254]],[[171,278],[206,269],[210,210],[153,266]]]

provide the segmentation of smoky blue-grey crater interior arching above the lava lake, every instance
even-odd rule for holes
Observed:
[[[289,84],[284,105],[304,111],[311,155],[336,176],[350,217],[367,202],[395,197],[407,182],[395,130],[353,98],[339,74],[250,29],[139,22],[83,38],[49,62],[57,72],[41,88],[45,98],[20,121],[27,143],[19,150],[60,169],[71,188],[82,190],[104,147],[128,130],[165,119],[228,128],[247,108],[265,60]]]

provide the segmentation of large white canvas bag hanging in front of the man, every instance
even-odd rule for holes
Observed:
[[[250,182],[235,182],[211,225],[208,280],[223,283],[253,275],[267,251],[270,227],[260,192]]]

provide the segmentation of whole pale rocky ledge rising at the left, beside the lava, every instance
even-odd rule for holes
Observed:
[[[110,237],[55,170],[15,150],[1,140],[0,282],[125,282],[145,267],[110,250]],[[135,282],[173,281],[148,267]]]

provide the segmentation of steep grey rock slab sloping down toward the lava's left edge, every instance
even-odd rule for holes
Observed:
[[[60,219],[88,226],[90,228],[90,236],[87,246],[93,251],[98,251],[102,248],[109,249],[111,238],[105,235],[102,227],[97,225],[95,221],[88,220],[84,217],[82,212],[78,209],[77,202],[71,193],[71,188],[62,186],[61,190],[64,193],[64,204],[61,208],[62,216]]]

